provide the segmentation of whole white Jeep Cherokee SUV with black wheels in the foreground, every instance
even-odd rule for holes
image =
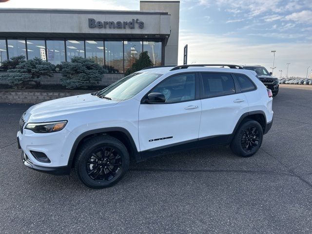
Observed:
[[[120,180],[130,158],[213,144],[252,156],[272,122],[271,90],[254,71],[181,65],[143,69],[97,93],[34,105],[17,137],[27,167],[54,175],[75,167],[86,186],[99,189]]]

